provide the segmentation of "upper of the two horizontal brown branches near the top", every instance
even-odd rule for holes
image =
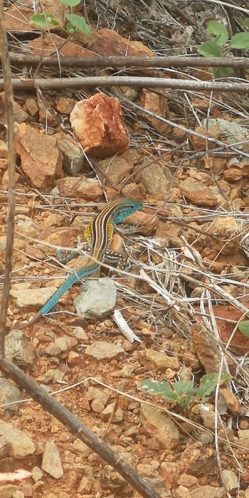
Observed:
[[[9,54],[9,60],[14,65],[37,65],[40,62],[40,55],[31,53],[14,53]],[[47,67],[58,66],[58,57],[46,55],[42,59],[42,65]],[[249,68],[249,58],[246,57],[185,57],[177,55],[171,57],[124,57],[124,56],[100,56],[92,57],[60,57],[60,66],[62,68]]]

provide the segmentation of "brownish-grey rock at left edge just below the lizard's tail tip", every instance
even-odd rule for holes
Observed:
[[[33,365],[34,353],[32,342],[21,330],[11,330],[6,336],[5,353],[7,358],[23,369]]]

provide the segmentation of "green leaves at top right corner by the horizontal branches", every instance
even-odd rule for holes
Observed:
[[[249,18],[244,19],[245,28],[249,27]],[[197,51],[204,57],[223,57],[224,48],[249,48],[249,32],[242,31],[232,36],[231,41],[228,43],[228,31],[226,26],[220,21],[210,21],[208,23],[207,31],[209,34],[214,35],[215,38],[211,41],[206,41],[198,46]],[[216,78],[226,78],[231,75],[231,68],[212,68],[213,74]]]

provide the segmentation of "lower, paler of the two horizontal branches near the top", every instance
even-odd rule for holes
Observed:
[[[142,76],[87,76],[79,78],[38,78],[36,83],[43,90],[63,88],[85,88],[85,87],[111,87],[136,86],[139,88],[171,88],[173,90],[213,90],[216,92],[249,93],[249,83],[227,83],[217,81],[199,80],[173,80],[171,78],[149,78]],[[15,90],[29,90],[34,88],[33,80],[18,80],[13,78],[12,85]],[[0,79],[0,90],[3,90],[4,82]]]

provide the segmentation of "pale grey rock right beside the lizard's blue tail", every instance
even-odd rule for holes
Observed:
[[[73,304],[80,317],[85,314],[93,317],[103,317],[110,312],[116,304],[117,289],[112,278],[87,280],[80,287],[80,294],[75,297]]]

